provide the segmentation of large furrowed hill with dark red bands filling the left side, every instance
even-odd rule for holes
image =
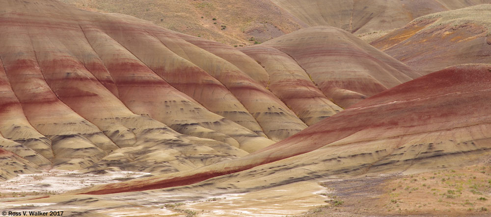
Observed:
[[[260,82],[171,31],[54,0],[0,3],[0,147],[32,167],[5,167],[2,179],[37,166],[187,170],[307,127]],[[257,120],[284,131],[267,136]]]

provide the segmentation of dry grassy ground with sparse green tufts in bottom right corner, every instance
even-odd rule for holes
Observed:
[[[491,164],[323,182],[329,204],[302,217],[490,216]],[[336,201],[336,203],[334,202]]]

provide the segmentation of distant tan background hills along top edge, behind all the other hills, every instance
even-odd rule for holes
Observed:
[[[135,16],[174,31],[237,46],[315,26],[338,27],[375,39],[374,36],[404,27],[423,15],[491,3],[490,0],[62,1],[82,9]]]

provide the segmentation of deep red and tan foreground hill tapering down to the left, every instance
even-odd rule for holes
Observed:
[[[377,94],[246,157],[76,193],[159,189],[213,177],[198,186],[252,190],[327,175],[472,164],[489,159],[490,101],[491,65],[451,67]],[[234,174],[221,176],[229,173]]]

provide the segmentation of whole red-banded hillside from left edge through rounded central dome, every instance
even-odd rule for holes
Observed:
[[[0,4],[1,180],[42,168],[187,171],[419,76],[337,28],[239,51],[55,0]]]

